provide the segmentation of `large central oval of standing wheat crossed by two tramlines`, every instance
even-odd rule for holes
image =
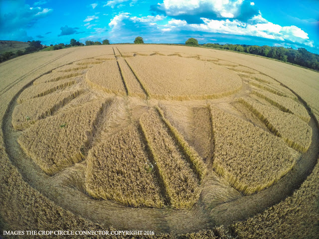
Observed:
[[[108,93],[157,99],[211,99],[240,89],[240,77],[212,62],[179,56],[135,56],[106,61],[86,75]]]

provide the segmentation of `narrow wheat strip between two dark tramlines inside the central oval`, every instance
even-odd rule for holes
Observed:
[[[128,90],[128,95],[146,98],[145,91],[142,88],[143,86],[141,86],[141,83],[139,83],[126,61],[121,57],[118,59],[118,63]]]

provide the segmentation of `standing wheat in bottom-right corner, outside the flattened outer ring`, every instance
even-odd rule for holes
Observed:
[[[285,201],[247,221],[233,225],[240,238],[318,238],[319,164],[301,187]]]

